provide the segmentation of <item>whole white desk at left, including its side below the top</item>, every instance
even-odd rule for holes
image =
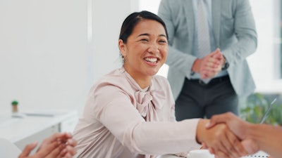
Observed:
[[[72,132],[78,121],[76,110],[27,110],[23,118],[0,112],[0,137],[15,143],[21,150],[27,143],[41,142],[55,132]],[[40,115],[42,114],[42,115]]]

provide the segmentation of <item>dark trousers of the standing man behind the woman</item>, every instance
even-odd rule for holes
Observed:
[[[228,76],[214,78],[209,84],[199,79],[185,79],[176,99],[176,120],[209,119],[214,114],[224,112],[239,114],[238,96]]]

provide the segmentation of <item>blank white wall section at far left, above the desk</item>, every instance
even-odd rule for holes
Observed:
[[[87,1],[0,2],[0,108],[75,108],[85,100]]]

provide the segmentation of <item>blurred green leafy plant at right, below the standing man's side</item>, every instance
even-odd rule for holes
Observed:
[[[267,100],[262,93],[253,93],[240,106],[240,117],[251,123],[259,124],[272,100]],[[264,124],[282,125],[282,106],[274,103]]]

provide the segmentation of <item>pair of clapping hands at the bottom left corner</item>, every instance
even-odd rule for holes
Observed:
[[[30,152],[35,149],[37,143],[26,145],[18,158],[71,158],[76,153],[77,142],[69,133],[54,133],[49,138],[43,140],[35,154]]]

